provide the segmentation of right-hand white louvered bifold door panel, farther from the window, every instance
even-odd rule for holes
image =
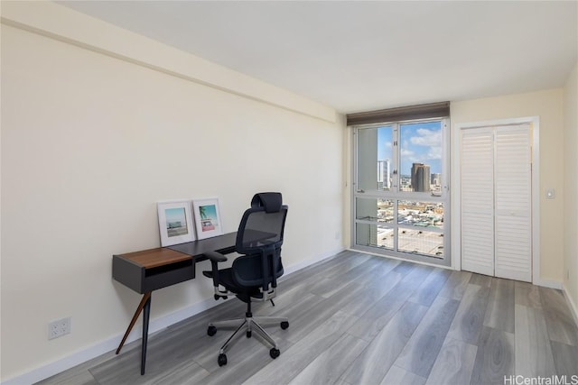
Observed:
[[[532,281],[529,124],[495,128],[495,275]]]

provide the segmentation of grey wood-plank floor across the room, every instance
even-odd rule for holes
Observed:
[[[154,304],[153,304],[154,306]],[[267,328],[281,355],[242,336],[219,367],[231,334],[209,320],[243,316],[236,298],[41,384],[504,384],[504,376],[578,375],[578,328],[560,290],[356,252],[300,270],[279,284],[289,317]],[[255,334],[254,334],[255,335]],[[513,383],[513,382],[510,382]]]

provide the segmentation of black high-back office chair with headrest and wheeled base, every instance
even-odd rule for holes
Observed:
[[[262,325],[279,323],[282,329],[289,327],[285,317],[254,317],[251,313],[251,301],[266,301],[275,298],[277,279],[283,275],[281,263],[281,245],[283,244],[284,224],[287,206],[282,204],[281,193],[256,194],[251,201],[251,208],[245,211],[238,226],[237,252],[239,256],[228,269],[218,268],[218,263],[227,261],[219,252],[205,253],[210,259],[210,271],[203,271],[205,277],[213,280],[215,299],[227,299],[235,295],[247,303],[245,318],[212,322],[207,334],[212,336],[220,327],[237,327],[227,342],[219,350],[219,366],[227,364],[226,351],[233,339],[245,330],[247,338],[255,331],[273,347],[269,351],[272,358],[279,356],[275,340],[266,333]],[[224,289],[223,289],[224,288]]]

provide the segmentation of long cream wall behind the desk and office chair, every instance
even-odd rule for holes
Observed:
[[[219,197],[230,232],[255,192],[278,190],[289,270],[341,250],[345,128],[334,111],[218,66],[228,82],[213,87],[83,48],[71,31],[94,21],[35,5],[3,4],[5,22],[23,17],[2,25],[2,380],[119,341],[140,295],[111,279],[112,254],[159,246],[159,200]],[[42,30],[53,20],[58,36]],[[114,32],[120,50],[134,48]],[[178,61],[137,42],[152,60]],[[202,278],[155,291],[153,323],[211,294]],[[48,322],[65,316],[72,333],[48,341]]]

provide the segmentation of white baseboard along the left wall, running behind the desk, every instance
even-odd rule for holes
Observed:
[[[311,260],[303,261],[297,263],[293,266],[289,266],[285,268],[285,275],[292,274],[298,270],[302,270],[307,266],[312,265],[313,263],[317,263],[319,261],[325,260],[330,258],[331,256],[338,254],[343,251],[343,248],[336,250],[334,252],[326,252],[322,255],[319,255],[316,258],[312,258]],[[149,335],[152,335],[155,332],[161,331],[171,325],[176,324],[184,319],[187,319],[191,316],[195,316],[202,311],[210,309],[210,307],[215,307],[222,302],[215,301],[212,297],[202,300],[190,307],[185,307],[182,310],[175,311],[171,314],[166,316],[161,316],[159,318],[151,319],[149,324]],[[143,334],[143,327],[142,325],[135,325],[133,331],[128,335],[126,338],[126,343],[129,344],[131,342],[136,341],[137,339],[141,338]],[[55,362],[48,363],[43,365],[40,368],[34,369],[33,371],[28,371],[22,375],[13,377],[12,379],[8,379],[2,382],[2,385],[22,385],[22,384],[33,384],[35,382],[45,380],[55,374],[61,373],[62,371],[67,371],[70,368],[73,368],[81,363],[87,362],[92,360],[93,358],[98,357],[104,353],[111,352],[116,350],[120,340],[122,339],[124,333],[119,335],[114,335],[108,338],[101,343],[94,344],[89,346],[86,349],[82,349],[78,352],[72,353],[60,360]]]

